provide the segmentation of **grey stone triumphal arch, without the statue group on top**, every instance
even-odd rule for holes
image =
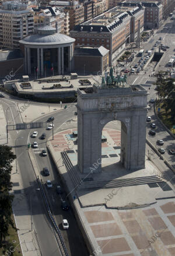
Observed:
[[[121,163],[127,170],[145,168],[148,92],[141,85],[93,85],[78,89],[78,167],[88,174],[98,162],[101,134],[111,120],[121,121]]]

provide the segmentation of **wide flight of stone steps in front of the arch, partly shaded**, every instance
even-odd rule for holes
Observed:
[[[157,175],[146,176],[146,177],[136,177],[128,179],[114,179],[113,181],[92,181],[83,182],[81,184],[81,189],[100,189],[100,188],[121,188],[125,186],[136,186],[148,183],[160,182],[162,179]]]

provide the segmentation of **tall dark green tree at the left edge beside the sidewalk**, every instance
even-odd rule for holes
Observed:
[[[15,158],[16,155],[13,154],[12,148],[0,146],[0,248],[2,247],[2,240],[9,235],[9,226],[16,230],[11,219],[13,195],[9,194],[12,190],[12,182],[10,182],[11,163]]]

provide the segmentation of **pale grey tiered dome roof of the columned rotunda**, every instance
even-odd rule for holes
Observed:
[[[51,26],[45,26],[38,29],[37,34],[26,36],[19,43],[33,44],[33,45],[54,45],[54,44],[67,44],[74,43],[75,39],[65,34],[55,33],[56,29]]]

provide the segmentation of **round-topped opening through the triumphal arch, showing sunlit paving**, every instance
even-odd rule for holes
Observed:
[[[123,122],[108,122],[101,132],[101,168],[102,171],[114,171],[121,176],[127,168],[127,127]]]

